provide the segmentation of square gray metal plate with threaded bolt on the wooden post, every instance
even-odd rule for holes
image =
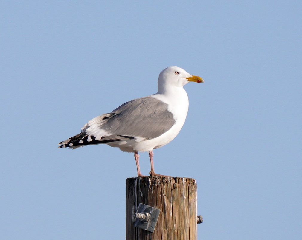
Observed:
[[[133,225],[149,232],[154,232],[160,210],[140,203],[137,212],[133,213]]]

